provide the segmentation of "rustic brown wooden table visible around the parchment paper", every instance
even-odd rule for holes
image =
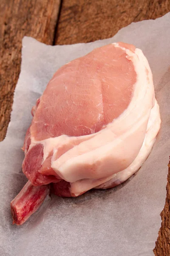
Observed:
[[[10,121],[24,35],[52,45],[91,42],[112,37],[131,22],[155,19],[169,11],[170,0],[1,0],[0,140]],[[161,218],[154,253],[170,256],[170,164]]]

